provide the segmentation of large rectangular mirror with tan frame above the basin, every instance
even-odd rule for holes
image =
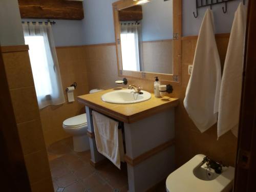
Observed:
[[[179,81],[181,0],[120,0],[113,11],[119,75]]]

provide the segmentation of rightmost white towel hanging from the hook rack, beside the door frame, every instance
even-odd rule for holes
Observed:
[[[246,7],[240,3],[234,14],[221,82],[218,138],[229,130],[238,136],[246,12]]]

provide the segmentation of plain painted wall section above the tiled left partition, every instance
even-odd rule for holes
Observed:
[[[21,22],[17,0],[0,0],[1,46],[25,44]]]

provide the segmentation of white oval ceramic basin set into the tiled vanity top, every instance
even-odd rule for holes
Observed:
[[[141,91],[143,94],[133,93],[133,90],[118,90],[105,93],[101,99],[108,103],[129,104],[143,102],[151,98],[151,94],[146,91]]]

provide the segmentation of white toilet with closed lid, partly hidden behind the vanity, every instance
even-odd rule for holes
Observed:
[[[103,91],[94,89],[90,94]],[[86,113],[71,117],[63,121],[63,130],[73,136],[73,145],[75,152],[84,152],[90,150],[89,138],[87,136],[87,117]]]

